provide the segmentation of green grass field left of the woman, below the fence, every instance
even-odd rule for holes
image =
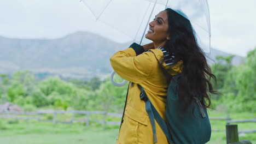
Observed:
[[[83,124],[12,123],[0,133],[4,144],[115,143],[117,128],[86,127]]]

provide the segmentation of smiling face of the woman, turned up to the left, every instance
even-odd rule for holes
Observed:
[[[154,43],[162,43],[168,38],[167,30],[168,17],[167,11],[164,10],[156,15],[155,19],[149,23],[149,31],[145,37],[152,40]]]

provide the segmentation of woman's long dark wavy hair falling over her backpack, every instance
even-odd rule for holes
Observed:
[[[211,78],[216,81],[216,76],[212,74],[206,57],[197,44],[190,21],[170,8],[165,10],[168,16],[167,33],[170,34],[170,40],[167,40],[164,48],[174,53],[176,58],[173,65],[183,61],[182,76],[179,79],[179,100],[183,101],[184,109],[194,97],[201,99],[203,107],[210,107],[210,93],[219,94],[214,91],[210,82]]]

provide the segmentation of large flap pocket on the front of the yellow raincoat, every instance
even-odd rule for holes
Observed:
[[[124,121],[121,125],[117,144],[138,143],[138,135],[141,133],[138,128],[148,124],[148,115],[126,105],[124,113]]]

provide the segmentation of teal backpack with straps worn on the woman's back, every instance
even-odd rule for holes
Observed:
[[[168,86],[166,99],[166,122],[156,111],[141,87],[140,97],[146,103],[146,111],[153,128],[154,143],[157,142],[155,121],[158,122],[166,138],[171,144],[203,144],[210,141],[211,124],[207,110],[202,107],[197,98],[184,111],[180,108],[178,97],[178,81],[180,75],[175,75]]]

